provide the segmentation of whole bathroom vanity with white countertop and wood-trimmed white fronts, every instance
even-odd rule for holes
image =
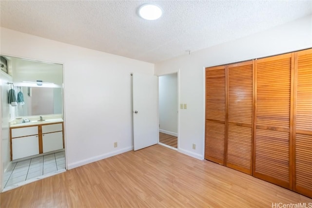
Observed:
[[[10,124],[11,160],[64,148],[61,118]]]

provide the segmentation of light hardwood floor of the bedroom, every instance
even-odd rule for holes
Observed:
[[[1,193],[1,208],[272,208],[312,199],[154,145]],[[277,208],[277,206],[275,206]]]

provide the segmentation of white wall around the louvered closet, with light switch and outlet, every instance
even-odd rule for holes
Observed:
[[[158,76],[174,73],[180,69],[180,103],[187,103],[188,108],[180,111],[178,151],[196,158],[204,158],[204,67],[273,56],[310,47],[312,47],[312,16],[155,64],[155,74]],[[192,149],[193,143],[196,144],[196,150]]]

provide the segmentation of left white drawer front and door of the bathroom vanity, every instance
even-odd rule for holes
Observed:
[[[38,126],[11,129],[13,160],[39,154]]]

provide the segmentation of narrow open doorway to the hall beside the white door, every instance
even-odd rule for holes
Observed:
[[[159,76],[159,144],[178,148],[178,75]]]

